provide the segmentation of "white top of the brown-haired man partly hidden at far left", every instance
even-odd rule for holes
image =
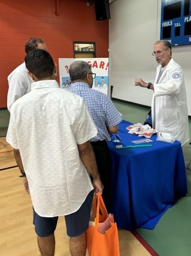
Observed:
[[[23,95],[31,91],[32,78],[28,75],[25,63],[22,63],[8,76],[9,91],[7,108],[10,111],[12,104]]]

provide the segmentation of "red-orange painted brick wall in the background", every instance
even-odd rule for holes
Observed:
[[[44,39],[58,58],[73,58],[73,41],[96,42],[96,57],[108,57],[108,21],[96,21],[86,0],[0,0],[0,107],[7,107],[7,76],[24,60],[24,44]]]

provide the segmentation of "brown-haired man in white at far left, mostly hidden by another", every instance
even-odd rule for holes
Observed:
[[[29,53],[33,49],[47,50],[43,39],[38,37],[31,37],[25,43],[25,53]],[[25,63],[23,62],[15,68],[8,76],[9,90],[7,95],[7,108],[10,112],[12,104],[21,96],[31,91],[32,78],[28,75]]]

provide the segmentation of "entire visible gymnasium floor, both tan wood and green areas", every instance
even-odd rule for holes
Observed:
[[[147,107],[138,107],[114,100],[122,118],[132,123],[144,122]],[[9,124],[9,112],[0,111],[0,137],[5,136]],[[191,134],[191,119],[189,120]],[[0,153],[11,150],[0,138]],[[191,146],[183,147],[187,164],[191,159]],[[16,165],[13,153],[0,154],[0,169]],[[4,156],[3,156],[4,155]],[[18,168],[0,171],[0,255],[39,256],[36,238],[31,224],[32,212],[30,197],[23,192]],[[158,253],[159,256],[191,255],[191,172],[187,171],[188,189],[186,197],[165,213],[154,230],[137,229],[139,235]],[[11,187],[11,188],[10,188]],[[64,228],[62,228],[64,227]],[[68,237],[64,235],[65,225],[60,220],[56,238],[58,240],[55,256],[69,256]],[[121,256],[149,256],[151,254],[128,231],[119,230]],[[12,251],[14,250],[14,253]],[[156,255],[156,254],[152,254]]]

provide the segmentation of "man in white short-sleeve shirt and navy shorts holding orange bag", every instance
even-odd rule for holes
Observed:
[[[41,255],[54,255],[55,218],[66,215],[71,254],[78,255],[77,250],[84,256],[93,193],[88,208],[86,201],[94,188],[96,193],[103,191],[89,142],[97,129],[84,100],[54,80],[55,64],[47,51],[32,50],[25,63],[35,82],[32,91],[11,107],[7,142],[14,149],[25,190],[31,194]],[[82,221],[74,215],[78,212]],[[53,219],[55,224],[48,229],[52,224],[44,227],[42,219]]]

